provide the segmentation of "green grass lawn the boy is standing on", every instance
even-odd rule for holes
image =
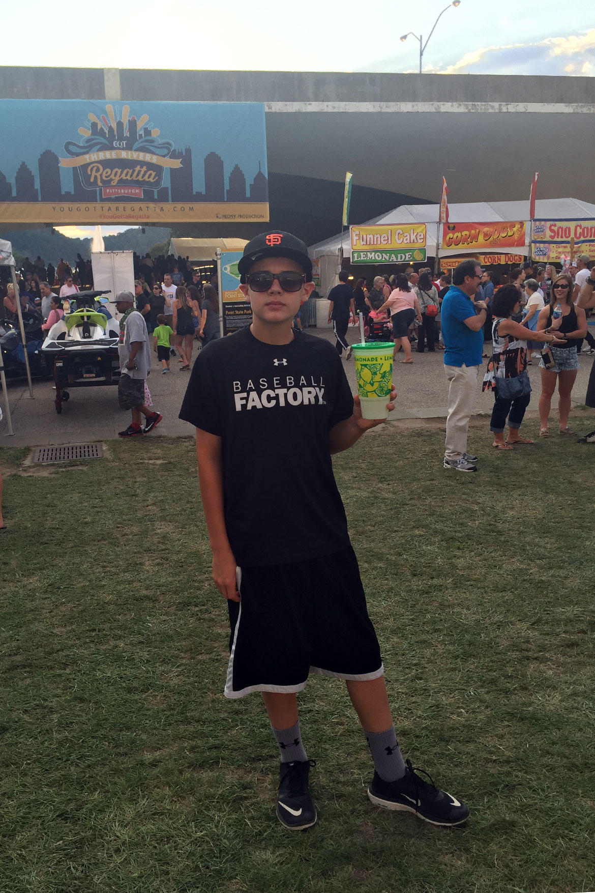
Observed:
[[[2,893],[595,889],[593,448],[497,453],[482,421],[463,475],[442,438],[387,425],[335,469],[401,748],[467,826],[373,807],[343,683],[313,677],[318,823],[282,829],[260,697],[222,693],[194,444],[112,442],[4,478]]]

